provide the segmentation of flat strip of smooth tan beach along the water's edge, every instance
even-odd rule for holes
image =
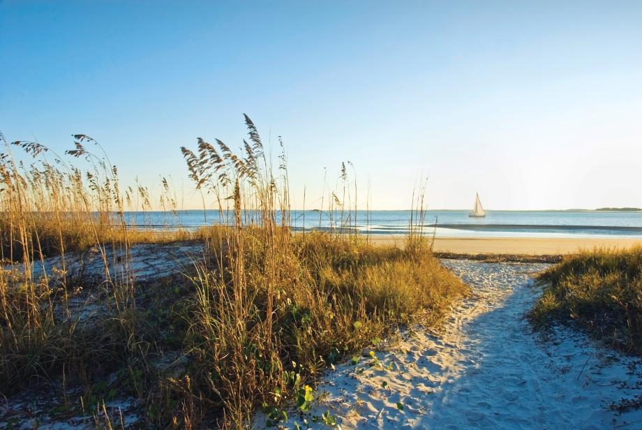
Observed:
[[[403,236],[375,235],[376,244],[403,244]],[[629,248],[642,245],[630,238],[540,238],[540,237],[438,237],[434,250],[459,254],[560,255],[597,247]]]

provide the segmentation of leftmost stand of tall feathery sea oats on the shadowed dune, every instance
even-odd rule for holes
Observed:
[[[0,138],[0,392],[71,375],[91,380],[123,366],[141,348],[135,285],[125,269],[109,270],[117,262],[106,249],[126,253],[132,242],[156,240],[126,226],[133,191],[121,192],[117,168],[85,147],[100,149],[85,135],[75,135],[68,151],[72,160],[82,158],[84,170],[37,142]],[[92,286],[73,283],[66,267],[68,253],[89,246],[103,259],[103,282],[93,287],[108,310],[91,327],[70,311],[69,300]],[[61,268],[33,276],[50,255],[59,255]]]

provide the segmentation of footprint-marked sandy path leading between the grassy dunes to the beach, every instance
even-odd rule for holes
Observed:
[[[439,334],[418,330],[376,359],[336,366],[311,412],[290,412],[283,424],[306,419],[321,428],[313,417],[329,410],[343,429],[642,428],[642,411],[609,410],[642,394],[639,360],[569,329],[546,340],[532,333],[523,316],[540,294],[531,275],[543,265],[445,265],[475,295],[455,306]]]

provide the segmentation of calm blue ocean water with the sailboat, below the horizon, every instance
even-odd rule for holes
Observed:
[[[371,235],[403,235],[408,232],[410,211],[358,211],[357,230]],[[128,212],[130,225],[153,229],[194,229],[221,222],[217,211]],[[246,222],[255,219],[245,212]],[[329,230],[341,224],[341,214],[327,211],[292,211],[294,230]],[[344,218],[347,216],[344,215]],[[223,214],[231,218],[231,214]],[[349,223],[354,226],[354,212]],[[415,224],[417,221],[415,220]],[[422,232],[437,237],[639,237],[642,212],[589,211],[487,211],[485,218],[470,218],[468,211],[428,211]]]

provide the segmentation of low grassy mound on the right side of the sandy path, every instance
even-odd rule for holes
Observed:
[[[642,248],[569,255],[539,276],[530,313],[539,327],[574,321],[605,343],[642,354]]]

